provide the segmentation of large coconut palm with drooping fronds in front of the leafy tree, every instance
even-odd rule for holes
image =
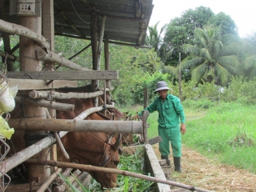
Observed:
[[[180,67],[191,70],[191,80],[196,84],[203,79],[225,86],[232,75],[237,75],[240,65],[236,37],[222,36],[220,28],[214,26],[195,29],[195,35],[196,45],[182,45],[188,56],[181,61]]]

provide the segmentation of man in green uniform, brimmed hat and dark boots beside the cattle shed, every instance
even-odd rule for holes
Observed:
[[[159,143],[161,159],[166,159],[166,162],[170,165],[168,156],[170,155],[171,142],[175,172],[182,172],[180,166],[180,133],[185,134],[186,132],[185,114],[180,99],[168,93],[168,90],[172,89],[168,88],[167,83],[159,81],[154,91],[154,93],[159,93],[159,97],[144,110],[147,110],[149,113],[158,111],[158,134],[163,140]],[[132,116],[132,118],[138,118],[141,115],[142,111],[138,115]]]

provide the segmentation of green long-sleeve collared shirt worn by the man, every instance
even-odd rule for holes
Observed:
[[[179,126],[179,120],[182,124],[185,123],[185,113],[180,99],[169,93],[164,101],[159,96],[144,110],[147,110],[149,113],[158,111],[157,122],[163,128],[177,127]],[[138,115],[141,116],[142,111]]]

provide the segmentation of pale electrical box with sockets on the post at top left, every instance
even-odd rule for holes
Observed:
[[[41,16],[41,0],[10,0],[10,15]]]

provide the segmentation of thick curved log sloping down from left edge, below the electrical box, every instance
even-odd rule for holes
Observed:
[[[38,45],[40,45],[40,47],[43,47],[45,49],[50,48],[50,44],[47,42],[47,40],[45,40],[44,36],[42,36],[40,33],[36,33],[35,31],[29,28],[14,23],[6,22],[0,19],[0,29],[5,33],[11,33],[13,35],[20,35],[26,38],[30,38],[31,40],[35,41]]]

